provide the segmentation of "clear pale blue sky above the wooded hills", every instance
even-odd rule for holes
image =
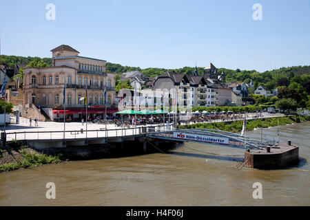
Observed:
[[[1,1],[1,54],[80,56],[135,67],[256,69],[310,65],[310,1]],[[56,20],[45,6],[54,3]],[[262,21],[254,21],[254,3]]]

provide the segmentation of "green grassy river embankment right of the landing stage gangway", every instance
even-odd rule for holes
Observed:
[[[296,124],[298,122],[309,122],[310,116],[294,115],[291,117],[278,117],[278,118],[261,118],[254,120],[247,120],[247,131],[253,131],[254,129],[259,129],[261,127],[268,128],[271,126],[278,126],[285,124]],[[213,122],[213,123],[196,123],[179,125],[178,129],[214,129],[220,131],[229,131],[232,133],[240,132],[242,130],[243,121],[234,122]]]

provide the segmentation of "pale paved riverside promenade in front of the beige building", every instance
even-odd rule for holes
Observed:
[[[270,114],[262,113],[258,117],[256,113],[247,114],[247,120],[258,118],[274,118],[282,117],[283,114]],[[238,118],[234,120],[243,120]],[[229,120],[230,121],[230,120]],[[223,120],[209,120],[203,123],[223,122]],[[194,124],[195,122],[181,122],[181,124]],[[167,130],[166,124],[147,124],[146,126],[115,126],[114,124],[107,124],[107,130],[105,130],[105,124],[93,124],[81,122],[66,122],[65,123],[65,136],[64,136],[64,124],[63,122],[38,122],[39,126],[34,126],[32,120],[32,126],[26,118],[20,118],[19,124],[10,124],[6,126],[7,141],[14,140],[61,140],[65,139],[83,139],[83,138],[96,138],[96,137],[123,137],[130,135],[138,135],[149,132],[159,132]],[[172,123],[169,125],[172,129]],[[83,129],[83,131],[81,131]],[[1,127],[3,131],[3,127]]]

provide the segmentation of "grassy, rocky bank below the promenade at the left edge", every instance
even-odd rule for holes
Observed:
[[[30,148],[30,146],[19,146],[17,142],[14,143],[14,146],[0,149],[0,173],[43,164],[56,164],[61,161],[63,161],[61,154],[49,156]]]

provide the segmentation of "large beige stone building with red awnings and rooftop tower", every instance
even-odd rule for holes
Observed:
[[[39,111],[45,118],[63,120],[63,87],[65,85],[65,113],[67,120],[85,118],[85,97],[90,117],[105,113],[106,88],[107,113],[115,107],[115,76],[105,71],[106,61],[79,56],[68,45],[51,50],[52,67],[24,69],[23,117],[34,117]],[[87,96],[85,91],[87,87]]]

